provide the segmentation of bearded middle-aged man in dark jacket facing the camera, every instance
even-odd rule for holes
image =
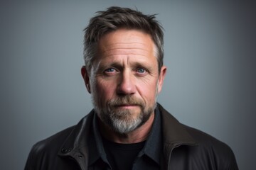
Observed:
[[[25,169],[238,169],[230,147],[156,103],[166,67],[155,16],[107,8],[90,20],[84,44],[94,109],[34,145]]]

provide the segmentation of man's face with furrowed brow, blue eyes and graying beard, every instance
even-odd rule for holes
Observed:
[[[154,113],[166,68],[159,73],[154,42],[139,30],[121,29],[103,36],[97,57],[85,78],[95,111],[105,125],[127,134]]]

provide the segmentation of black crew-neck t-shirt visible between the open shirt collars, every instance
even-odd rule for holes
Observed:
[[[113,170],[130,170],[139,152],[144,147],[144,142],[120,144],[102,139],[107,159]]]

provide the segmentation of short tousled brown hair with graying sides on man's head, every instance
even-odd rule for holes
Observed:
[[[102,36],[120,28],[142,30],[148,33],[156,46],[156,57],[160,72],[164,58],[164,33],[156,14],[144,15],[140,11],[131,8],[112,6],[106,11],[98,11],[97,15],[90,19],[90,23],[84,32],[84,60],[87,72],[97,60],[97,42]]]

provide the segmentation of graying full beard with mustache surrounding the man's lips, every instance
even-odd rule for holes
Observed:
[[[118,96],[108,101],[105,106],[100,106],[100,100],[97,100],[95,96],[92,95],[92,103],[97,116],[102,123],[122,135],[128,134],[144,125],[156,108],[156,101],[151,106],[146,106],[144,101],[133,96]],[[137,106],[139,111],[137,109],[134,111],[134,109],[119,107],[124,105]]]

